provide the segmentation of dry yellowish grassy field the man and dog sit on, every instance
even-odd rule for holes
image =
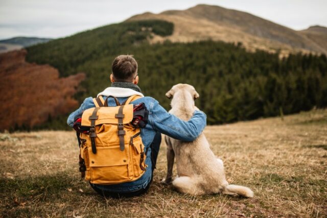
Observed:
[[[80,179],[74,132],[14,133],[0,135],[0,217],[327,216],[327,110],[204,132],[228,181],[250,187],[254,198],[198,197],[160,185],[162,144],[146,195],[104,199]]]

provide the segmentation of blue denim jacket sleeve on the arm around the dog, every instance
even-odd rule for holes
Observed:
[[[153,99],[150,106],[149,122],[156,131],[177,140],[194,141],[206,126],[206,115],[195,111],[189,121],[183,121],[169,114],[159,102]]]

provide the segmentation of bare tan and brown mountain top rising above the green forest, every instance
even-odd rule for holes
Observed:
[[[299,51],[327,53],[324,40],[314,40],[302,31],[219,6],[197,5],[187,10],[170,10],[159,14],[147,12],[132,16],[127,21],[144,19],[162,19],[175,25],[173,35],[154,38],[153,42],[166,39],[173,42],[212,39],[242,42],[250,51],[262,49],[269,52],[281,50],[282,54]]]

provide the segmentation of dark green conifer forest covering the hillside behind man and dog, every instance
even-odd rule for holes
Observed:
[[[110,85],[111,62],[133,54],[139,65],[139,85],[169,109],[165,93],[176,83],[189,83],[200,94],[196,101],[209,124],[235,122],[310,110],[327,105],[325,55],[249,53],[239,43],[200,41],[150,45],[154,35],[173,33],[172,23],[131,21],[101,27],[28,48],[27,60],[48,63],[60,76],[84,72],[81,103]],[[64,116],[64,115],[63,115]],[[65,115],[66,116],[66,115]],[[63,128],[66,124],[46,125]]]

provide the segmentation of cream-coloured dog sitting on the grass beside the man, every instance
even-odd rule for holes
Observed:
[[[182,120],[189,120],[194,111],[198,108],[194,105],[194,99],[199,97],[194,87],[189,84],[177,84],[166,93],[168,98],[172,98],[172,109],[169,113]],[[225,193],[231,195],[241,195],[252,198],[251,189],[229,185],[225,178],[224,165],[218,159],[202,133],[193,142],[183,142],[165,136],[167,144],[167,177],[162,180],[162,184],[172,182],[174,158],[176,158],[178,177],[174,179],[173,186],[182,193],[189,194],[211,194]]]

